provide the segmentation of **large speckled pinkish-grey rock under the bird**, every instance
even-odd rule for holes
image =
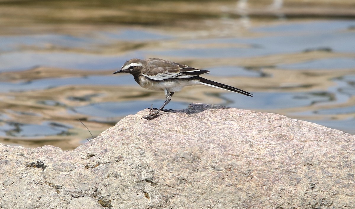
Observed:
[[[355,208],[355,136],[191,104],[73,151],[0,144],[0,208]]]

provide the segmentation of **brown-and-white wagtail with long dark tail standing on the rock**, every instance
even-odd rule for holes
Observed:
[[[117,73],[129,73],[133,75],[137,84],[145,89],[165,92],[166,100],[163,105],[157,111],[152,111],[153,108],[151,106],[149,115],[141,119],[151,120],[157,117],[158,113],[171,101],[174,93],[181,91],[185,86],[203,84],[252,97],[252,94],[249,92],[207,80],[200,76],[209,73],[208,70],[191,68],[187,65],[165,59],[148,58],[142,60],[133,58],[127,60],[122,68],[113,74]]]

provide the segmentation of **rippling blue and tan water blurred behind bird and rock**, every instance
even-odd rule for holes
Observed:
[[[355,134],[354,17],[354,0],[0,0],[0,143],[72,150],[92,138],[81,122],[97,136],[159,107],[163,92],[112,75],[154,57],[254,95],[185,87],[168,109],[219,104]]]

